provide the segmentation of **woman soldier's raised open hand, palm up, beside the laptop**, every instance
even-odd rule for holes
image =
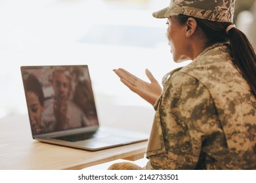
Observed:
[[[132,75],[125,69],[114,69],[113,71],[117,76],[119,76],[123,84],[125,84],[131,91],[137,93],[140,97],[148,101],[148,103],[154,105],[158,97],[160,97],[161,86],[148,69],[146,69],[145,73],[146,76],[148,76],[150,83]]]

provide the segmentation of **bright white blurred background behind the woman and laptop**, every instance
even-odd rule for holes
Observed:
[[[123,86],[112,69],[123,67],[159,82],[186,63],[173,63],[166,20],[152,12],[160,0],[0,0],[0,118],[27,114],[22,65],[89,65],[96,103],[150,107]],[[249,18],[248,18],[249,17]],[[245,14],[242,26],[252,21]]]

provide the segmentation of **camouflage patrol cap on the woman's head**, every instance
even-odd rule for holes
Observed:
[[[154,12],[155,18],[185,14],[216,22],[233,22],[235,0],[171,0],[169,7]]]

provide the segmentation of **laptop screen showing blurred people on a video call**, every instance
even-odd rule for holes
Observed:
[[[32,134],[98,125],[87,65],[22,66]]]

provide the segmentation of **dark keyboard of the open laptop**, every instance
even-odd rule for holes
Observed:
[[[77,141],[84,141],[87,139],[91,139],[93,135],[95,135],[95,131],[87,132],[87,133],[79,133],[75,135],[66,135],[62,137],[53,137],[53,139],[68,141],[68,142],[77,142]]]

